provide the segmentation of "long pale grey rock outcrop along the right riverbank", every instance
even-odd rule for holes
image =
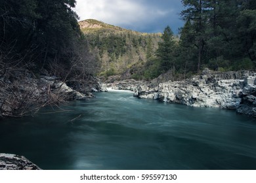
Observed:
[[[202,75],[186,80],[144,82],[135,89],[135,97],[192,107],[237,109],[240,114],[256,117],[255,76],[251,71],[215,73],[206,69]]]

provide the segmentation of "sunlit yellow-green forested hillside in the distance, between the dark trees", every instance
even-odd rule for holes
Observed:
[[[150,78],[146,70],[161,41],[161,33],[139,33],[97,20],[79,22],[98,63],[98,76],[122,75],[122,78]],[[157,75],[156,75],[157,76]]]

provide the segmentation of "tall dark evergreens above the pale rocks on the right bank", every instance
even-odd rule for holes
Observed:
[[[255,59],[255,1],[183,0],[182,27],[177,63],[187,69],[209,67],[216,71],[252,69]],[[186,55],[186,56],[184,56]],[[184,67],[183,67],[184,68]]]

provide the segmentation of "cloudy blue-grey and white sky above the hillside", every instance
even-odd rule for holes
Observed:
[[[182,27],[181,0],[77,0],[80,20],[93,18],[134,31],[158,33]]]

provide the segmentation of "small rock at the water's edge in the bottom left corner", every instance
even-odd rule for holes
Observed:
[[[41,170],[24,156],[0,153],[0,170]]]

